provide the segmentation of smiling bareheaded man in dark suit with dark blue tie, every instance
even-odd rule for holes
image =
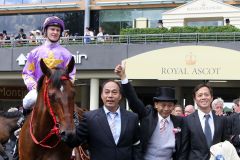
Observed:
[[[213,91],[199,84],[193,91],[198,110],[184,119],[181,160],[209,160],[210,147],[226,139],[226,119],[211,109]]]

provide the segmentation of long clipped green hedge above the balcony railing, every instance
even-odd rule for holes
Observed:
[[[132,34],[162,34],[162,33],[214,33],[214,32],[240,32],[240,29],[234,26],[219,27],[172,27],[167,28],[127,28],[120,31],[120,35]]]

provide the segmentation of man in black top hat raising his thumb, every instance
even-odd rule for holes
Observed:
[[[144,160],[178,159],[183,120],[182,117],[171,115],[177,102],[174,89],[158,88],[153,97],[154,106],[145,107],[128,82],[125,66],[117,65],[115,73],[122,80],[123,93],[130,108],[139,116]]]

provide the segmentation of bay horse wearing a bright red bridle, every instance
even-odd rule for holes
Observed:
[[[32,113],[19,136],[20,160],[69,160],[72,148],[61,137],[75,133],[73,122],[75,90],[69,74],[74,58],[65,70],[49,69],[41,59],[43,76],[38,81],[38,96]]]

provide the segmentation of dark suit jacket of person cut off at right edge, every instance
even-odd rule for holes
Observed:
[[[228,118],[228,134],[229,140],[234,145],[237,150],[238,155],[240,156],[240,113],[234,113]]]

